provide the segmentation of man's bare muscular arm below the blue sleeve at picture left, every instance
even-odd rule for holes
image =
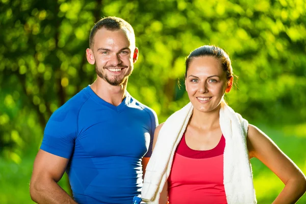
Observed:
[[[30,195],[37,203],[77,203],[58,184],[68,159],[39,150],[34,161]]]

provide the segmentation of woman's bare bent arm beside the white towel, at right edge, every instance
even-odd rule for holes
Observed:
[[[295,203],[306,191],[306,179],[301,170],[256,126],[249,125],[247,146],[250,158],[256,157],[285,184],[273,204]]]

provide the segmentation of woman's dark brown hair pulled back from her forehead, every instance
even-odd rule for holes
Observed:
[[[230,78],[233,76],[233,68],[230,57],[228,57],[228,55],[224,52],[223,49],[214,45],[204,45],[196,48],[190,53],[185,63],[186,64],[185,78],[187,77],[187,71],[191,61],[196,57],[205,57],[205,56],[215,57],[218,60],[220,60],[222,69],[226,73],[226,79],[230,80]]]

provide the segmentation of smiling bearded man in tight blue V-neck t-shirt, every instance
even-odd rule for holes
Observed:
[[[133,28],[121,18],[103,18],[89,46],[97,80],[45,127],[30,184],[38,203],[132,203],[141,191],[158,120],[126,91],[138,58]],[[57,184],[65,170],[74,199]]]

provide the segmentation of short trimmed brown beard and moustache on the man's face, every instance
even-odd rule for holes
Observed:
[[[97,67],[97,65],[95,64],[95,70],[96,70],[97,75],[101,79],[104,79],[107,83],[109,83],[112,86],[122,85],[130,77],[130,75],[132,74],[133,69],[134,69],[133,64],[131,64],[129,70],[124,74],[123,77],[120,74],[120,75],[115,75],[113,77],[113,79],[109,79],[107,74],[106,74],[106,72],[107,72],[106,69],[108,69],[108,68],[124,68],[124,69],[126,69],[126,68],[129,68],[129,67],[121,64],[121,65],[117,65],[117,66],[107,66],[107,67],[103,67],[103,68],[99,69]],[[105,70],[105,72],[103,73],[101,70]]]

